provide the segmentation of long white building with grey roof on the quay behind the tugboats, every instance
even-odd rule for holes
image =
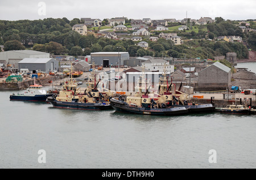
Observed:
[[[164,72],[164,65],[166,65],[166,72],[168,74],[174,72],[174,65],[170,65],[168,61],[163,60],[162,58],[149,59],[142,62],[142,65],[145,66],[145,69],[148,69],[151,72]]]

